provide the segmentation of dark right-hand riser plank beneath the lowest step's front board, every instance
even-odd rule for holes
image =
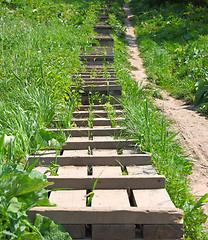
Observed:
[[[183,224],[143,225],[144,239],[181,239]]]

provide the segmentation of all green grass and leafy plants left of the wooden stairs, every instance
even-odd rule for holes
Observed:
[[[0,1],[1,239],[71,239],[48,218],[37,215],[34,223],[27,218],[31,207],[50,205],[43,189],[50,183],[45,175],[31,172],[36,161],[28,163],[27,158],[39,149],[57,150],[65,141],[63,133],[44,129],[56,119],[62,127],[71,126],[72,111],[80,103],[79,92],[71,91],[72,76],[81,67],[79,54],[91,48],[101,4]],[[54,174],[57,168],[56,163],[49,166]],[[34,187],[28,189],[30,178]],[[15,195],[19,189],[22,195]]]

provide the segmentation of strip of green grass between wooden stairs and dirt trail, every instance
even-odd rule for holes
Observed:
[[[190,194],[187,176],[192,173],[192,164],[189,157],[169,121],[153,105],[149,92],[138,87],[138,83],[130,76],[126,68],[131,67],[127,62],[126,40],[119,35],[114,35],[114,39],[115,68],[123,88],[121,103],[125,110],[126,136],[128,139],[136,139],[138,150],[151,153],[157,172],[165,175],[166,188],[173,203],[184,211],[186,239],[207,239],[203,227],[207,216]]]

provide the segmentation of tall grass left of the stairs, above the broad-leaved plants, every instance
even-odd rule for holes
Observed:
[[[67,125],[65,99],[73,95],[78,56],[91,46],[100,2],[12,2],[0,8],[0,134],[15,137],[15,159],[38,147],[38,130],[54,118]]]

